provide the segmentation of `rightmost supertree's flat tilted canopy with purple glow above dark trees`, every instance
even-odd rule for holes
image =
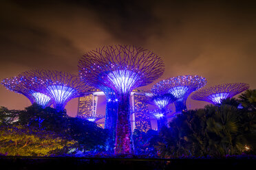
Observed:
[[[217,86],[198,90],[191,96],[191,99],[208,101],[211,104],[221,104],[222,99],[227,99],[228,97],[231,98],[248,88],[249,85],[245,83],[219,84]]]

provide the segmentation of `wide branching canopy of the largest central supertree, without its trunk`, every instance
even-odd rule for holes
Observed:
[[[108,86],[116,94],[129,94],[150,84],[164,72],[162,59],[147,49],[129,45],[89,51],[79,61],[81,78],[93,86]]]

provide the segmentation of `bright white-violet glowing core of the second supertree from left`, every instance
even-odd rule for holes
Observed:
[[[70,99],[70,97],[72,97],[72,95],[76,93],[76,90],[74,90],[74,88],[70,88],[68,86],[52,85],[47,86],[47,90],[50,91],[57,105],[64,105],[68,101],[68,99]]]

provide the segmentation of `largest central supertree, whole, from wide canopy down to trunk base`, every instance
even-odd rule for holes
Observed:
[[[79,61],[81,77],[92,86],[107,86],[118,98],[116,154],[131,154],[129,96],[131,90],[150,84],[164,72],[155,53],[131,45],[107,46],[89,51]]]

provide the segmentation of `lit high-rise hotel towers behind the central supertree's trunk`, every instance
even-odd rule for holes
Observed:
[[[104,97],[105,93],[101,90],[97,90],[91,95],[85,95],[78,98],[78,116],[91,117],[92,114],[102,114],[97,112],[98,98]],[[151,129],[151,122],[146,112],[148,112],[148,106],[146,102],[145,93],[141,90],[133,90],[130,97],[131,103],[131,130],[141,130],[147,132]],[[98,125],[104,127],[104,121],[98,121]]]

